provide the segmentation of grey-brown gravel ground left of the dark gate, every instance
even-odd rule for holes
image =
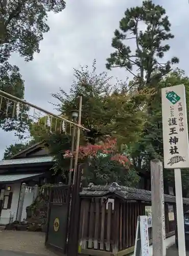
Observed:
[[[28,252],[39,256],[56,256],[56,254],[45,248],[44,240],[45,233],[41,232],[2,230],[0,231],[0,256],[25,255],[19,253],[14,254],[14,252]],[[5,252],[7,250],[9,253]],[[33,256],[33,254],[31,256]]]

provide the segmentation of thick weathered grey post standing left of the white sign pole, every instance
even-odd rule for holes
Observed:
[[[153,256],[166,256],[163,167],[159,159],[151,161]]]

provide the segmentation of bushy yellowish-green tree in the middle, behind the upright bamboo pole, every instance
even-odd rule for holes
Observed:
[[[96,72],[96,60],[92,64],[92,72],[81,67],[75,69],[69,94],[64,90],[53,94],[59,100],[58,110],[64,116],[70,116],[72,110],[78,109],[79,95],[82,100],[81,123],[90,132],[85,133],[88,142],[95,144],[105,136],[115,136],[123,143],[137,140],[144,125],[144,111],[141,111],[141,98],[149,96],[147,92],[130,95],[127,83],[117,81],[111,84],[112,77],[106,72]],[[144,106],[144,104],[143,104]]]

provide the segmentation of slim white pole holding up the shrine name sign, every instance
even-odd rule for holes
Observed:
[[[182,181],[181,170],[175,168],[175,194],[176,194],[176,206],[177,206],[177,231],[178,231],[178,255],[185,256],[185,234],[184,234],[184,213],[182,202]]]

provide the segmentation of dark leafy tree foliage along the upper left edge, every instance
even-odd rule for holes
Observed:
[[[16,97],[24,96],[24,81],[16,66],[8,60],[12,53],[18,53],[26,61],[32,60],[34,53],[39,53],[39,43],[43,34],[49,31],[46,23],[48,12],[58,13],[65,8],[60,0],[2,0],[0,3],[0,90]],[[24,118],[12,117],[13,104],[1,106],[0,127],[5,131],[17,130],[18,134],[27,128]],[[27,110],[27,108],[26,108]],[[24,123],[25,122],[25,123]]]

